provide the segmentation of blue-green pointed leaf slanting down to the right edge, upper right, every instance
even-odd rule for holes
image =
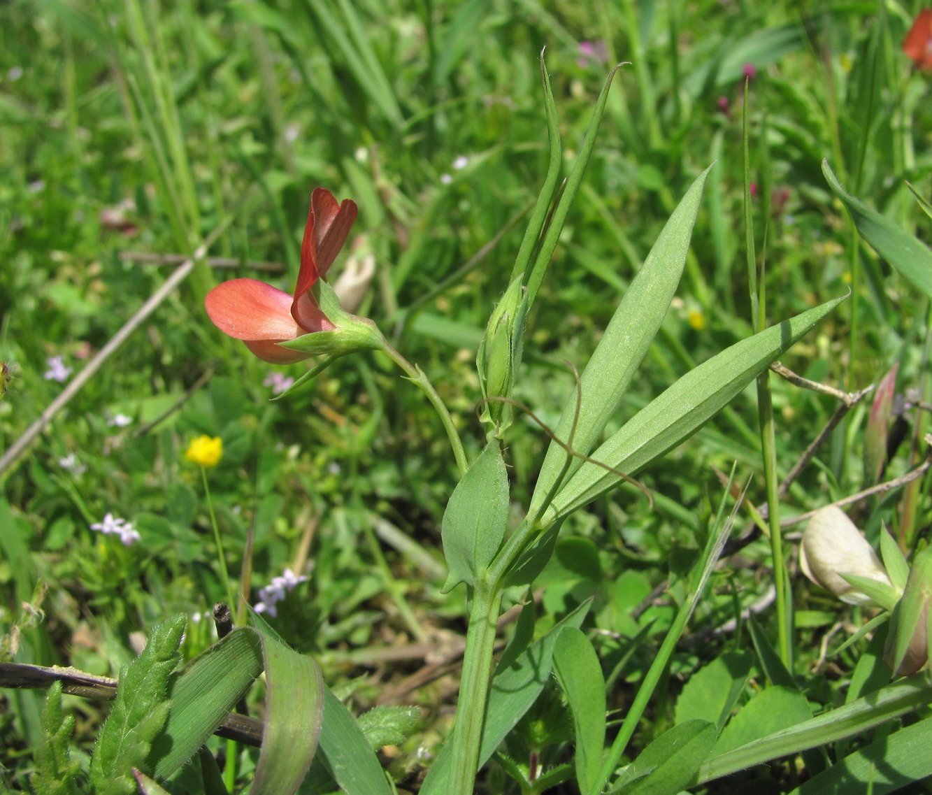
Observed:
[[[860,236],[913,286],[932,298],[932,250],[918,238],[904,231],[880,212],[846,193],[838,177],[822,161],[822,173],[829,187],[848,208]]]

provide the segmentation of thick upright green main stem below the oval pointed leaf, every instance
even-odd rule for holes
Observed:
[[[501,589],[486,583],[476,587],[466,630],[466,651],[452,735],[453,758],[448,779],[451,795],[473,795],[479,767],[488,686],[492,679],[492,652],[501,608]]]

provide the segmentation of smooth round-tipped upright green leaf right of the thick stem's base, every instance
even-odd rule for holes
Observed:
[[[573,716],[576,781],[588,792],[605,747],[605,678],[596,650],[579,629],[568,626],[556,638],[554,673]]]

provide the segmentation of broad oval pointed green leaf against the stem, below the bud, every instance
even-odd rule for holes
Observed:
[[[445,591],[458,583],[475,584],[499,551],[507,521],[508,473],[500,442],[490,439],[446,503],[441,528],[449,568]]]

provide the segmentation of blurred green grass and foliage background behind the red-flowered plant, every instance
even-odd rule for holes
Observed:
[[[322,185],[356,200],[350,243],[362,240],[377,261],[360,313],[432,378],[474,457],[482,443],[475,348],[546,171],[544,47],[568,170],[610,66],[631,63],[616,75],[529,320],[517,398],[555,424],[574,388],[564,360],[582,369],[665,219],[713,160],[678,299],[608,430],[750,333],[741,226],[746,72],[768,319],[843,295],[852,283],[856,290],[785,363],[850,389],[898,363],[898,392],[926,396],[928,302],[857,240],[820,171],[829,158],[846,189],[929,240],[928,218],[904,185],[927,197],[932,172],[929,75],[900,52],[917,8],[789,0],[3,4],[0,358],[15,363],[16,375],[0,402],[0,445],[11,445],[62,390],[44,377],[48,357],[78,371],[173,267],[124,253],[190,254],[226,224],[209,254],[243,263],[198,267],[3,474],[0,626],[7,631],[21,603],[35,601],[36,583],[48,585],[44,621],[24,632],[16,659],[112,674],[132,658],[133,633],[178,610],[209,611],[224,597],[200,475],[184,460],[200,433],[225,445],[209,478],[232,571],[250,527],[254,593],[286,567],[310,567],[308,582],[281,605],[277,628],[318,656],[356,711],[424,664],[417,653],[386,662],[387,649],[462,631],[464,596],[439,593],[440,517],[456,467],[420,393],[384,358],[355,356],[269,402],[271,368],[220,334],[202,300],[233,275],[290,290],[310,190]],[[584,57],[581,42],[593,43],[595,55]],[[126,219],[119,228],[107,221],[115,208]],[[257,274],[246,261],[285,270]],[[296,377],[305,367],[284,372]],[[836,404],[776,379],[773,391],[786,473]],[[108,424],[117,415],[133,421]],[[911,435],[921,429],[917,413],[907,419]],[[861,408],[820,448],[784,513],[862,487],[864,422]],[[510,432],[514,500],[527,504],[548,442],[529,421]],[[69,454],[83,473],[62,468]],[[541,585],[551,587],[542,613],[552,621],[595,595],[599,651],[620,682],[651,657],[650,642],[634,648],[631,638],[653,620],[651,632],[662,631],[672,610],[669,599],[637,617],[632,608],[697,546],[719,500],[713,468],[727,471],[734,460],[760,502],[751,391],[643,474],[652,509],[625,493],[565,526],[576,546],[544,572]],[[909,464],[907,444],[887,474]],[[908,520],[919,531],[928,526],[926,493],[917,490]],[[881,519],[898,527],[902,510],[893,497],[858,515],[874,532]],[[106,512],[131,521],[142,541],[124,547],[92,532]],[[733,559],[695,622],[719,624],[760,596],[766,578],[755,571],[766,559],[764,543]],[[810,598],[805,585],[795,588]],[[816,665],[838,609],[813,598],[798,614],[801,670],[812,671],[813,692],[831,703],[836,668],[856,657],[849,650],[834,668]],[[193,625],[185,651],[209,642],[205,623]],[[702,659],[683,651],[670,688]],[[404,694],[426,706],[428,744],[446,731],[443,705],[455,687],[452,675]],[[651,731],[665,726],[665,697]],[[0,697],[0,744],[14,782],[28,769],[39,704],[30,692]],[[103,707],[72,706],[86,743]]]

